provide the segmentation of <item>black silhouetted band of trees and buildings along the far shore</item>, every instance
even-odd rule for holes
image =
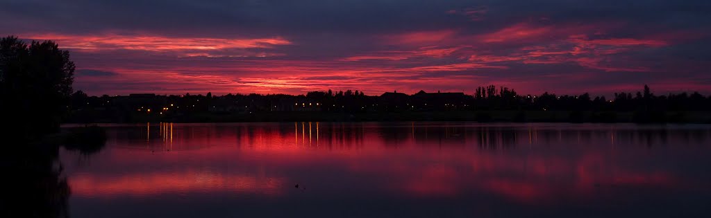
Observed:
[[[481,86],[473,95],[362,91],[311,91],[305,95],[225,96],[132,94],[71,98],[71,122],[220,121],[387,121],[474,120],[512,122],[710,122],[711,97],[700,93],[656,95],[648,86],[636,93],[606,96],[519,95],[513,88]],[[279,118],[281,117],[281,118]]]

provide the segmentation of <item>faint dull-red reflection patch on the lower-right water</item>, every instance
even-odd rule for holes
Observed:
[[[415,195],[456,195],[461,190],[483,190],[510,200],[536,203],[560,197],[585,198],[599,185],[636,185],[672,188],[679,185],[666,172],[634,172],[609,164],[602,155],[586,154],[580,158],[554,156],[503,156],[467,154],[451,159],[452,164],[437,168],[412,168],[404,174],[415,179],[405,181]],[[474,162],[473,171],[455,171],[459,163]],[[453,167],[454,166],[454,167]],[[542,203],[542,202],[538,202]]]

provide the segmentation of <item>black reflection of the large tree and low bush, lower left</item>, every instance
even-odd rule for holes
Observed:
[[[69,217],[71,193],[60,147],[81,159],[97,154],[105,146],[100,127],[70,128],[62,134],[23,142],[3,135],[0,167],[0,217]]]

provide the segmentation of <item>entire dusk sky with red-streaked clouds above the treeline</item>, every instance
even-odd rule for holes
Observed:
[[[711,1],[0,0],[75,90],[711,93]]]

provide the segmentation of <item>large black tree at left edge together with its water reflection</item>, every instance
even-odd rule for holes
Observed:
[[[53,41],[0,38],[0,217],[69,217],[60,147],[91,155],[105,146],[102,127],[60,131],[74,69],[69,52]]]

